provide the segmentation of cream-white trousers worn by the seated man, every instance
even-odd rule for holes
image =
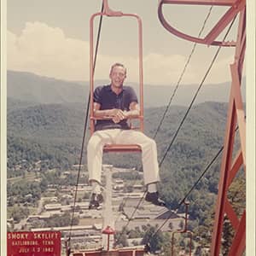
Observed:
[[[108,129],[96,131],[87,145],[89,180],[102,182],[102,150],[105,144],[137,144],[142,148],[144,183],[160,181],[157,148],[153,139],[141,131]]]

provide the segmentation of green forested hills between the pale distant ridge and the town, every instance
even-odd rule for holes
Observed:
[[[14,101],[12,101],[14,102]],[[84,105],[80,103],[48,104],[21,108],[12,104],[8,111],[8,157],[9,168],[21,160],[28,163],[47,160],[49,166],[67,168],[78,163],[84,132]],[[25,107],[24,107],[25,106]],[[164,108],[145,110],[145,133],[153,137]],[[155,140],[159,160],[166,152],[186,108],[174,106]],[[177,139],[162,165],[165,179],[167,170],[200,169],[201,165],[221,146],[224,136],[226,104],[202,103],[189,113]],[[87,131],[87,139],[90,132]],[[85,152],[84,152],[85,156]],[[117,166],[140,166],[140,160],[111,155]],[[84,157],[85,159],[85,157]],[[139,163],[138,163],[139,161]],[[10,171],[10,170],[9,170]],[[11,172],[9,172],[10,175]]]

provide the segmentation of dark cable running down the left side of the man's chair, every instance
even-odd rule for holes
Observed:
[[[101,12],[103,12],[103,9],[104,9],[104,3],[103,3],[103,1],[102,1],[102,10],[101,10]],[[100,17],[99,27],[98,27],[98,33],[97,33],[96,52],[95,52],[94,62],[93,62],[93,73],[94,73],[95,67],[96,67],[96,56],[97,56],[98,46],[99,46],[99,42],[100,42],[101,30],[102,30],[102,15],[101,15],[101,17]],[[80,158],[79,158],[79,172],[78,172],[77,183],[76,183],[76,189],[75,189],[75,195],[74,195],[74,201],[73,201],[73,214],[72,214],[72,220],[71,220],[70,230],[69,230],[69,237],[68,237],[69,245],[68,245],[68,247],[70,247],[71,232],[72,232],[72,229],[73,229],[74,211],[75,211],[75,205],[76,205],[76,201],[77,201],[78,186],[79,186],[79,177],[80,177],[81,165],[82,165],[82,159],[83,159],[83,153],[84,153],[84,141],[85,141],[86,131],[87,131],[87,123],[88,123],[89,109],[90,109],[90,93],[89,93],[89,96],[88,96],[87,108],[86,108],[86,115],[85,115],[85,120],[84,120],[84,135],[83,135],[82,146],[81,146],[81,153],[80,153]]]

